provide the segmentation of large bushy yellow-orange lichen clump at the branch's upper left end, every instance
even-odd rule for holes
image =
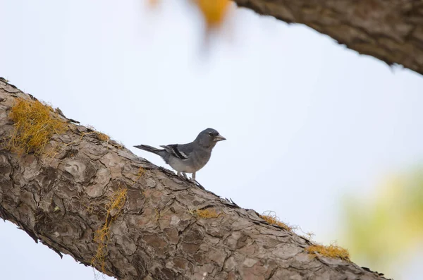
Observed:
[[[67,124],[38,100],[17,99],[9,117],[14,122],[8,148],[18,154],[41,154],[51,136],[66,132]]]

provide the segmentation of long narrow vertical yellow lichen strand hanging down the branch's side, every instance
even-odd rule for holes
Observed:
[[[110,228],[112,221],[116,220],[121,214],[121,209],[126,202],[126,195],[128,188],[118,188],[116,192],[109,198],[109,203],[106,204],[106,221],[103,226],[100,226],[94,233],[94,242],[98,243],[96,255],[91,260],[91,265],[95,267],[99,265],[104,273],[105,260],[107,255],[107,244],[110,238]]]

